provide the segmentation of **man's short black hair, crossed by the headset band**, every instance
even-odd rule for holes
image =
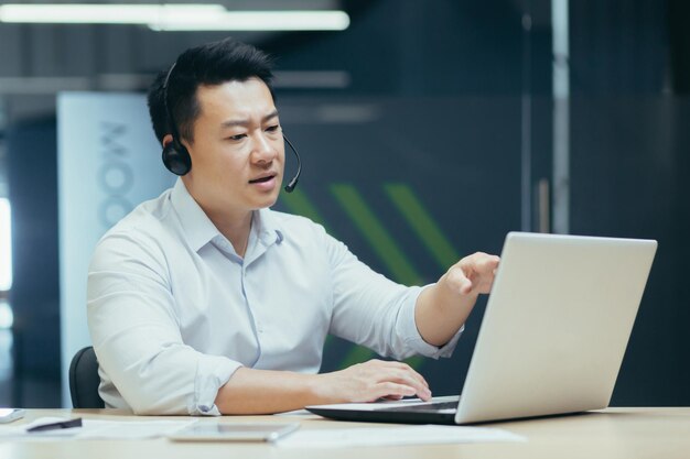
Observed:
[[[168,81],[168,105],[180,136],[190,143],[194,142],[194,121],[201,114],[196,98],[200,86],[246,81],[256,77],[268,86],[274,98],[271,67],[272,63],[267,54],[231,37],[182,53]],[[163,88],[169,72],[170,68],[166,68],[157,75],[148,95],[151,123],[161,143],[166,134],[172,133],[172,120],[168,119]]]

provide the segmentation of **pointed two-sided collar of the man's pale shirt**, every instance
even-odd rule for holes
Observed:
[[[180,217],[180,225],[184,231],[190,247],[198,252],[201,248],[220,234],[220,231],[211,221],[206,212],[194,200],[181,178],[177,178],[171,194],[173,208]],[[270,209],[254,211],[251,223],[251,239],[256,239],[263,248],[283,240],[283,229],[280,222],[272,215]],[[263,252],[265,250],[261,250]]]

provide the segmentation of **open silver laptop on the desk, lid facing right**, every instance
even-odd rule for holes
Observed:
[[[462,396],[306,409],[466,424],[604,408],[656,249],[654,240],[508,233]]]

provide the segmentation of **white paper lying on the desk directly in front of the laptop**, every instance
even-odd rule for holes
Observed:
[[[527,441],[527,438],[498,428],[423,425],[301,429],[279,440],[277,445],[285,448],[343,448],[498,441]]]

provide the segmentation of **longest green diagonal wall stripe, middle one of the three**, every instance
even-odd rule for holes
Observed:
[[[367,240],[371,250],[388,269],[392,280],[405,285],[418,284],[421,276],[355,187],[334,184],[331,185],[331,192]]]

